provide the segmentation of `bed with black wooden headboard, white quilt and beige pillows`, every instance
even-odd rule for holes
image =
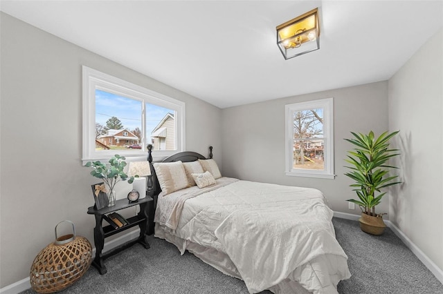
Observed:
[[[350,271],[323,194],[222,177],[212,150],[152,163],[149,149],[154,236],[244,280],[250,293],[337,293]]]

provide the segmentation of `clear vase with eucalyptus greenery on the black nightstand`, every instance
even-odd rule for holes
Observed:
[[[91,175],[98,177],[105,182],[107,186],[108,206],[114,206],[116,204],[116,195],[114,187],[120,181],[126,181],[129,184],[134,182],[134,177],[129,177],[123,169],[125,168],[125,157],[120,155],[114,155],[109,159],[108,164],[104,164],[101,161],[88,161],[84,166],[91,167]],[[136,176],[137,177],[137,176]]]

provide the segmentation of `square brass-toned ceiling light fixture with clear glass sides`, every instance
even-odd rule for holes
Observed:
[[[277,45],[284,59],[320,49],[318,8],[277,26]]]

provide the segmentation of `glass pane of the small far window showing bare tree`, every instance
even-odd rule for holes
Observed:
[[[323,108],[293,112],[293,168],[325,170]]]

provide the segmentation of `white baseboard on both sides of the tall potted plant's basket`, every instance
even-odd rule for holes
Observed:
[[[350,213],[339,213],[338,211],[334,211],[334,217],[338,217],[341,219],[351,219],[351,220],[359,220],[360,215],[351,215]],[[433,275],[443,284],[443,271],[441,268],[437,266],[420,248],[417,247],[403,232],[400,231],[395,224],[392,224],[389,220],[384,221],[386,226],[390,228],[397,237],[403,241],[403,243],[412,251],[418,259],[428,268]]]

